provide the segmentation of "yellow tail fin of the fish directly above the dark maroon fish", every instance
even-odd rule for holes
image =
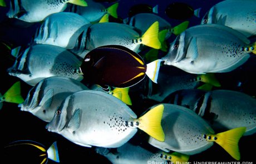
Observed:
[[[141,43],[155,49],[160,49],[161,42],[158,39],[158,32],[159,32],[159,22],[156,21],[143,34],[143,36],[141,37]]]

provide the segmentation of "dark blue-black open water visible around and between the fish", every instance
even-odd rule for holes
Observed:
[[[195,26],[200,24],[201,18],[204,16],[205,12],[210,9],[214,4],[220,2],[216,0],[196,0],[196,1],[119,1],[119,7],[117,13],[120,18],[126,18],[131,6],[139,3],[146,3],[151,6],[159,5],[159,15],[170,22],[172,26],[176,26],[183,21],[176,21],[175,19],[170,19],[164,13],[166,6],[171,2],[185,2],[190,4],[194,9],[201,8],[200,18],[191,17],[188,19],[189,26]],[[8,4],[8,2],[7,2]],[[104,3],[106,7],[110,6],[108,3]],[[1,11],[1,25],[0,25],[0,39],[2,41],[8,41],[16,46],[26,46],[27,43],[31,41],[36,28],[40,26],[40,23],[28,24],[22,22],[17,23],[16,21],[6,21],[4,14],[8,11],[8,8],[0,8]],[[172,38],[173,39],[173,38]],[[14,82],[21,81],[16,77],[9,76],[6,72],[8,67],[11,67],[14,63],[12,58],[9,58],[7,51],[3,51],[4,47],[1,47],[1,83],[0,93],[4,94],[9,87],[11,87]],[[6,49],[5,49],[6,50]],[[217,78],[220,80],[222,88],[228,90],[236,90],[247,93],[248,95],[255,96],[256,93],[256,81],[255,81],[255,56],[252,56],[250,60],[243,66],[235,69],[232,72],[216,74]],[[242,86],[237,87],[237,83],[242,82]],[[28,86],[26,83],[21,81],[21,92],[23,98],[26,98],[28,91],[32,86]],[[131,93],[132,94],[132,93]],[[154,102],[146,100],[137,100],[136,96],[131,95],[132,102],[134,106],[132,110],[139,116],[143,111],[145,111]],[[17,140],[33,140],[42,143],[46,147],[57,141],[58,150],[60,154],[61,163],[110,163],[105,157],[98,155],[93,151],[93,148],[87,148],[78,146],[72,143],[57,133],[48,132],[45,129],[46,122],[41,121],[39,118],[33,116],[29,112],[19,111],[17,104],[13,103],[3,103],[3,108],[0,111],[0,125],[1,125],[1,147],[7,143],[17,141]],[[184,120],[186,121],[186,120]],[[130,142],[137,143],[140,137],[143,136],[143,132],[138,131],[137,134],[130,140]],[[241,154],[240,162],[256,162],[255,160],[255,147],[256,147],[256,135],[243,136],[239,141],[239,149]],[[26,151],[26,150],[24,150]],[[223,150],[216,143],[210,147],[208,150],[201,152],[197,155],[190,156],[191,163],[194,161],[235,161],[227,152]],[[2,163],[2,162],[1,162]],[[55,163],[51,160],[48,163]],[[247,163],[249,164],[249,163]],[[250,163],[252,164],[252,163]]]

